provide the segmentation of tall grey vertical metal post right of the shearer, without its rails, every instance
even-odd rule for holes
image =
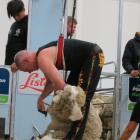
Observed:
[[[114,98],[114,114],[113,114],[113,140],[118,140],[120,136],[120,91],[121,91],[121,45],[122,45],[122,18],[123,18],[123,0],[119,0],[119,17],[118,17],[118,44],[117,44],[117,64],[116,64],[116,80],[115,80],[115,98]]]

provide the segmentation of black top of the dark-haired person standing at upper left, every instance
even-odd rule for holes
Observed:
[[[12,24],[6,45],[5,65],[11,65],[14,62],[15,54],[27,48],[27,28],[28,16]]]

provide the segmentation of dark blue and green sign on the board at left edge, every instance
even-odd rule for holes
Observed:
[[[0,104],[8,103],[10,73],[6,68],[0,68]]]

